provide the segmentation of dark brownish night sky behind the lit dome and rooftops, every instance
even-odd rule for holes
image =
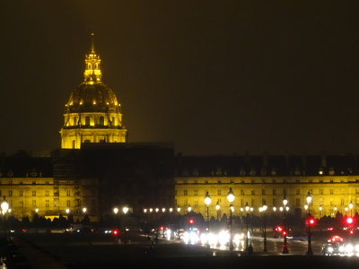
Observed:
[[[1,1],[0,152],[60,148],[91,33],[129,142],[359,151],[359,1]]]

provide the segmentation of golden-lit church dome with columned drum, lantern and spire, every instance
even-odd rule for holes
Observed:
[[[93,36],[93,35],[92,35]],[[84,81],[66,103],[61,148],[79,149],[81,143],[125,143],[127,129],[115,93],[101,81],[101,58],[93,46],[85,56]]]

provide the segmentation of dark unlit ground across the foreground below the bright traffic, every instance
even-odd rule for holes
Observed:
[[[359,268],[356,256],[263,256],[263,253],[229,256],[228,251],[217,251],[214,256],[213,249],[202,246],[161,241],[157,245],[146,241],[117,244],[113,240],[82,241],[75,237],[23,235],[15,241],[20,252],[28,256],[29,268]]]

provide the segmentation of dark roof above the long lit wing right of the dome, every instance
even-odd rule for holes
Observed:
[[[344,155],[215,155],[176,157],[177,177],[291,177],[359,175],[359,156]]]

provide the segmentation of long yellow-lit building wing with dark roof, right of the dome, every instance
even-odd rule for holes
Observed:
[[[206,215],[204,198],[208,192],[212,198],[210,216],[216,218],[217,213],[219,216],[225,213],[228,217],[230,208],[226,195],[232,187],[234,215],[238,216],[245,214],[246,203],[257,215],[264,203],[268,212],[273,213],[276,207],[279,213],[284,196],[290,213],[303,216],[308,193],[312,197],[311,214],[316,218],[359,212],[359,162],[355,155],[318,155],[308,157],[307,161],[301,156],[292,157],[291,160],[288,156],[276,156],[276,160],[269,164],[268,156],[251,156],[251,160],[243,156],[227,156],[226,160],[216,160],[218,166],[214,165],[215,161],[206,160],[210,159],[208,157],[188,158],[188,161],[182,157],[175,178],[176,205],[181,208],[181,213],[187,213],[190,205],[195,213]],[[246,158],[247,163],[243,161]],[[204,160],[207,165],[203,165]],[[217,202],[221,206],[219,212],[215,209]],[[353,208],[350,210],[351,203]]]

